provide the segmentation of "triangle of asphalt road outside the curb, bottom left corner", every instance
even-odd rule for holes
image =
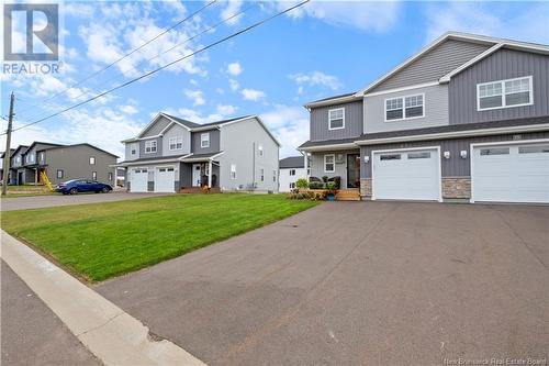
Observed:
[[[101,365],[23,282],[1,262],[2,365]]]

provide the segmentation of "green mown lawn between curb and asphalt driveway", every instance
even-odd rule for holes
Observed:
[[[176,195],[2,212],[2,229],[90,281],[136,270],[318,202],[282,195]]]

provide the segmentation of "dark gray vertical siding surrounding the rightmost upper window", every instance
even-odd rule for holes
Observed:
[[[477,85],[533,76],[534,104],[477,110]],[[477,123],[549,114],[549,56],[500,49],[453,76],[449,86],[450,124]]]

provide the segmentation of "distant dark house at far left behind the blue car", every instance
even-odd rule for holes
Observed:
[[[43,184],[45,173],[52,184],[69,179],[92,179],[114,184],[110,165],[117,156],[90,144],[60,145],[33,142],[10,154],[10,185]],[[1,155],[3,158],[3,154]]]

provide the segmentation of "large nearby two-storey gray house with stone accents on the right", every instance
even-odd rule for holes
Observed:
[[[310,102],[311,176],[362,199],[549,202],[549,46],[449,32]]]

